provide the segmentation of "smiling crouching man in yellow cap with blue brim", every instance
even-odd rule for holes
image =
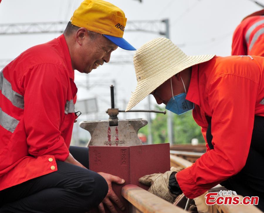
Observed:
[[[64,33],[34,46],[0,72],[0,212],[87,212],[124,205],[111,188],[120,177],[90,171],[88,148],[70,147],[77,87],[121,47],[124,12],[85,0]],[[103,203],[101,203],[103,202]]]

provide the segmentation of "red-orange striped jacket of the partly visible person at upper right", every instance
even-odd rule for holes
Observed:
[[[264,56],[264,16],[251,16],[233,34],[232,55]]]

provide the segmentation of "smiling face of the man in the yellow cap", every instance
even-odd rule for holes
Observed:
[[[82,41],[77,43],[75,69],[81,73],[89,73],[93,69],[97,69],[104,62],[109,62],[112,51],[116,50],[117,47],[103,35],[97,34],[97,36],[92,37],[86,31]]]

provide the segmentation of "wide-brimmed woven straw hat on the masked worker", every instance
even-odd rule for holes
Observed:
[[[195,64],[209,61],[214,56],[187,56],[170,39],[166,38],[157,38],[145,43],[134,55],[133,61],[138,83],[126,111],[136,106],[139,101],[171,76]]]

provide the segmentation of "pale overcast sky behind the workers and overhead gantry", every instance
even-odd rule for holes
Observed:
[[[257,0],[264,4],[264,0]],[[69,21],[81,0],[2,0],[0,4],[0,24],[24,22]],[[248,14],[261,7],[250,0],[109,0],[120,7],[128,21],[170,20],[170,39],[179,44],[188,55],[216,54],[228,56],[231,53],[232,34],[236,26]],[[0,35],[0,59],[13,59],[22,51],[36,44],[47,42],[60,34]],[[134,47],[161,37],[158,34],[124,32],[123,36]],[[136,88],[136,77],[132,57],[134,51],[118,48],[112,56],[127,54],[128,64],[104,64],[88,74],[75,71],[79,100],[97,97],[99,114],[91,114],[83,119],[107,119],[104,114],[110,108],[109,86],[115,81],[117,104],[125,109],[131,91]],[[111,61],[111,59],[110,59]],[[84,86],[92,87],[88,91]],[[84,86],[82,86],[84,85]],[[152,104],[155,99],[151,98]],[[144,99],[133,109],[144,109]],[[152,106],[154,107],[154,105]],[[104,116],[102,116],[104,115]],[[126,114],[126,118],[145,117],[145,114]],[[123,115],[119,115],[122,119]]]

